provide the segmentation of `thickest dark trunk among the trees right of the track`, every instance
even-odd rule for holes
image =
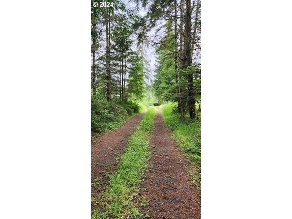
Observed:
[[[185,42],[184,42],[184,59],[183,68],[186,69],[192,64],[192,11],[191,11],[191,0],[186,0],[186,13],[185,13]],[[190,118],[196,118],[195,112],[195,94],[194,94],[194,83],[193,73],[187,72],[188,81],[188,105]]]

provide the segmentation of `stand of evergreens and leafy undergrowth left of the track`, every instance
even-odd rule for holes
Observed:
[[[143,45],[135,42],[140,17],[125,2],[113,5],[91,7],[91,127],[97,132],[137,113],[145,91]]]

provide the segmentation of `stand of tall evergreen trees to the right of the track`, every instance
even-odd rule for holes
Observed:
[[[159,5],[159,6],[157,6]],[[183,118],[198,119],[201,111],[201,2],[154,1],[148,12],[159,23],[161,40],[153,87],[160,101],[175,101]],[[164,22],[161,22],[161,19]]]

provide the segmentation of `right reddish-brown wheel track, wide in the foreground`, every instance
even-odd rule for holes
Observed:
[[[150,138],[152,156],[139,194],[148,205],[141,211],[151,219],[200,219],[200,197],[187,177],[188,161],[175,148],[160,109]]]

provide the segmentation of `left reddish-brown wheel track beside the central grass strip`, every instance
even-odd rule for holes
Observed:
[[[116,171],[117,157],[122,154],[129,137],[135,132],[145,113],[129,119],[117,130],[102,134],[91,143],[91,198],[98,196],[105,189],[109,178],[107,173]],[[91,204],[95,209],[97,202]]]

